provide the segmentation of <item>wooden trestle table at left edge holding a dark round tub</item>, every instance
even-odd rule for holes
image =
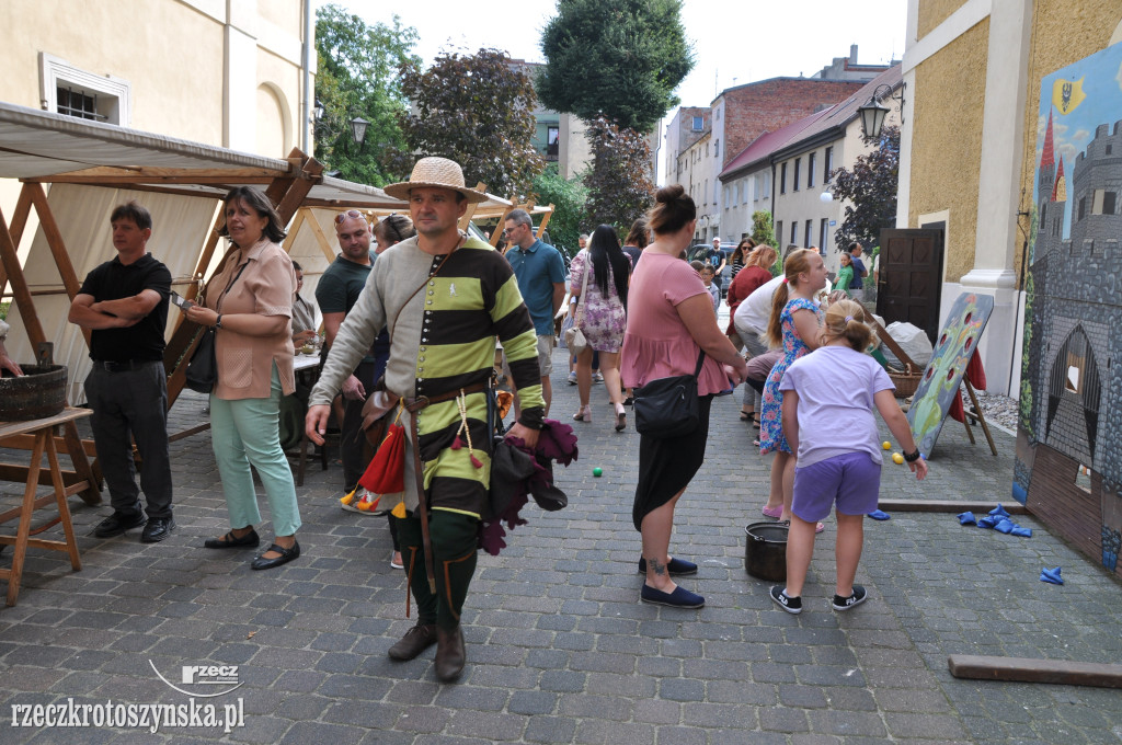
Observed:
[[[27,438],[33,440],[31,460],[30,465],[26,468],[16,466],[4,466],[3,478],[8,481],[19,481],[16,478],[18,475],[24,473],[22,479],[26,482],[26,488],[24,489],[24,502],[19,507],[9,509],[4,513],[0,513],[0,523],[8,523],[12,519],[19,518],[19,526],[16,531],[16,535],[0,535],[0,544],[3,545],[15,545],[15,554],[11,560],[11,569],[0,569],[0,579],[8,580],[8,605],[16,605],[16,598],[19,596],[19,581],[24,573],[24,557],[27,553],[28,546],[34,546],[36,549],[47,549],[50,551],[65,551],[70,554],[71,567],[74,571],[82,569],[82,560],[79,558],[77,553],[77,542],[74,540],[74,526],[71,524],[70,508],[66,506],[66,497],[72,494],[85,494],[92,490],[98,496],[98,502],[101,500],[101,495],[98,491],[96,484],[92,482],[92,475],[89,472],[90,465],[85,461],[85,453],[81,448],[77,447],[77,453],[72,448],[68,451],[72,453],[72,459],[75,460],[75,468],[81,468],[77,465],[77,460],[82,460],[85,463],[85,478],[76,480],[71,485],[66,485],[63,479],[63,470],[58,467],[58,450],[55,447],[54,430],[58,425],[65,425],[67,429],[66,442],[70,444],[70,432],[73,431],[74,439],[77,438],[77,430],[74,426],[74,421],[82,419],[83,416],[89,416],[92,414],[89,408],[72,408],[66,407],[61,413],[54,416],[47,416],[44,419],[31,420],[30,422],[0,422],[0,447],[10,445],[24,445]],[[42,473],[42,461],[43,454],[47,454],[48,471]],[[44,481],[44,478],[46,479]],[[40,481],[49,484],[54,487],[54,490],[43,497],[36,498],[35,493],[39,487]],[[88,499],[89,502],[89,499]],[[58,509],[57,516],[48,517],[45,523],[36,527],[31,527],[31,513],[42,507],[46,507],[52,503]],[[96,504],[96,503],[93,503]],[[45,539],[33,539],[31,535],[37,535],[43,531],[57,525],[63,524],[63,533],[66,535],[65,541],[48,541]]]

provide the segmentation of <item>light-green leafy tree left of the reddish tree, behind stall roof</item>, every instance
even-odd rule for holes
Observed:
[[[387,168],[387,148],[405,147],[398,118],[406,110],[398,68],[421,64],[412,54],[416,29],[390,24],[369,26],[339,6],[315,12],[315,49],[319,71],[315,99],[323,116],[315,122],[315,157],[343,178],[384,186],[402,175]],[[360,146],[351,135],[351,120],[370,122]]]

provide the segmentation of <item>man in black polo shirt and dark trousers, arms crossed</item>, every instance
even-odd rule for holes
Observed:
[[[164,372],[172,274],[145,251],[151,236],[148,210],[129,202],[114,209],[109,221],[117,258],[86,276],[70,310],[71,323],[90,329],[93,369],[85,379],[85,396],[113,507],[93,534],[120,535],[147,523],[140,541],[155,543],[175,530]],[[140,488],[148,502],[144,511],[132,462],[134,438],[141,458]]]

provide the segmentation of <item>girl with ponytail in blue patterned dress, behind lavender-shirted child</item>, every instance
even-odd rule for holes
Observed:
[[[775,452],[771,470],[771,496],[764,515],[791,519],[791,494],[794,486],[794,454],[783,436],[783,394],[779,389],[783,372],[791,362],[818,348],[819,311],[811,300],[826,286],[826,265],[818,251],[802,248],[793,251],[783,263],[785,279],[772,300],[767,341],[783,346],[783,359],[775,362],[764,384],[763,406],[760,417],[760,454]],[[782,505],[778,504],[782,497]]]

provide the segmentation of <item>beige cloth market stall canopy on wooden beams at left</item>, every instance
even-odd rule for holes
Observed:
[[[132,199],[153,214],[149,250],[171,269],[175,289],[190,298],[222,254],[215,252],[221,199],[234,186],[260,186],[291,223],[286,249],[297,260],[311,259],[304,288],[305,298],[311,297],[337,252],[335,213],[357,209],[377,218],[408,210],[380,188],[322,174],[322,164],[297,149],[287,158],[266,158],[0,101],[0,178],[22,182],[11,214],[0,212],[0,297],[16,301],[9,313],[15,332],[9,352],[33,360],[39,342],[54,342],[55,360],[70,368],[68,398],[82,401],[89,337],[66,316],[82,278],[116,256],[109,214]],[[472,205],[462,227],[472,217],[502,219],[515,206],[543,214],[540,230],[551,212],[488,195]],[[16,250],[25,228],[34,224],[33,209],[39,224],[21,265]],[[493,242],[497,238],[496,232]],[[182,387],[195,330],[181,323],[177,311],[169,313],[165,365],[171,402]]]

